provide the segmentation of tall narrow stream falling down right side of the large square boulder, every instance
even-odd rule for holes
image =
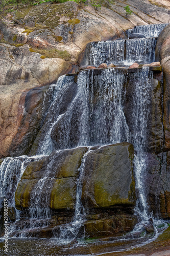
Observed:
[[[133,73],[131,79],[135,79],[136,86],[132,95],[132,131],[130,142],[134,146],[136,154],[134,156],[134,172],[136,177],[136,189],[139,198],[135,210],[140,215],[141,220],[148,220],[148,205],[145,198],[143,177],[146,171],[147,155],[147,126],[149,121],[151,103],[151,83],[149,82],[149,67],[143,67],[140,73]],[[150,77],[150,78],[151,78]],[[135,132],[134,132],[135,131]]]

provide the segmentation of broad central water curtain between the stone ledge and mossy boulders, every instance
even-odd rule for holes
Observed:
[[[128,140],[123,112],[126,79],[112,68],[78,75],[78,92],[57,128],[55,149],[118,143]]]

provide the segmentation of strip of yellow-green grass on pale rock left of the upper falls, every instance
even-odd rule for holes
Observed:
[[[67,51],[60,51],[58,49],[37,49],[30,48],[30,52],[37,52],[41,54],[41,59],[44,58],[61,58],[65,60],[70,60],[70,54]]]

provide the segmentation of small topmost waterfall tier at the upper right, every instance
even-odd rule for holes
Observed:
[[[134,29],[128,29],[127,34],[128,38],[132,33],[139,33],[145,35],[146,37],[158,37],[161,31],[167,26],[167,24],[151,24],[151,25],[141,25],[136,26]]]

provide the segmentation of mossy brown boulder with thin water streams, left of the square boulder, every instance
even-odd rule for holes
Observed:
[[[22,175],[15,193],[17,209],[28,208],[31,205],[33,189],[40,179],[47,177],[51,182],[48,189],[44,185],[40,191],[40,200],[48,198],[52,209],[74,208],[76,202],[76,179],[86,147],[64,150],[52,153],[48,157],[30,162]]]

